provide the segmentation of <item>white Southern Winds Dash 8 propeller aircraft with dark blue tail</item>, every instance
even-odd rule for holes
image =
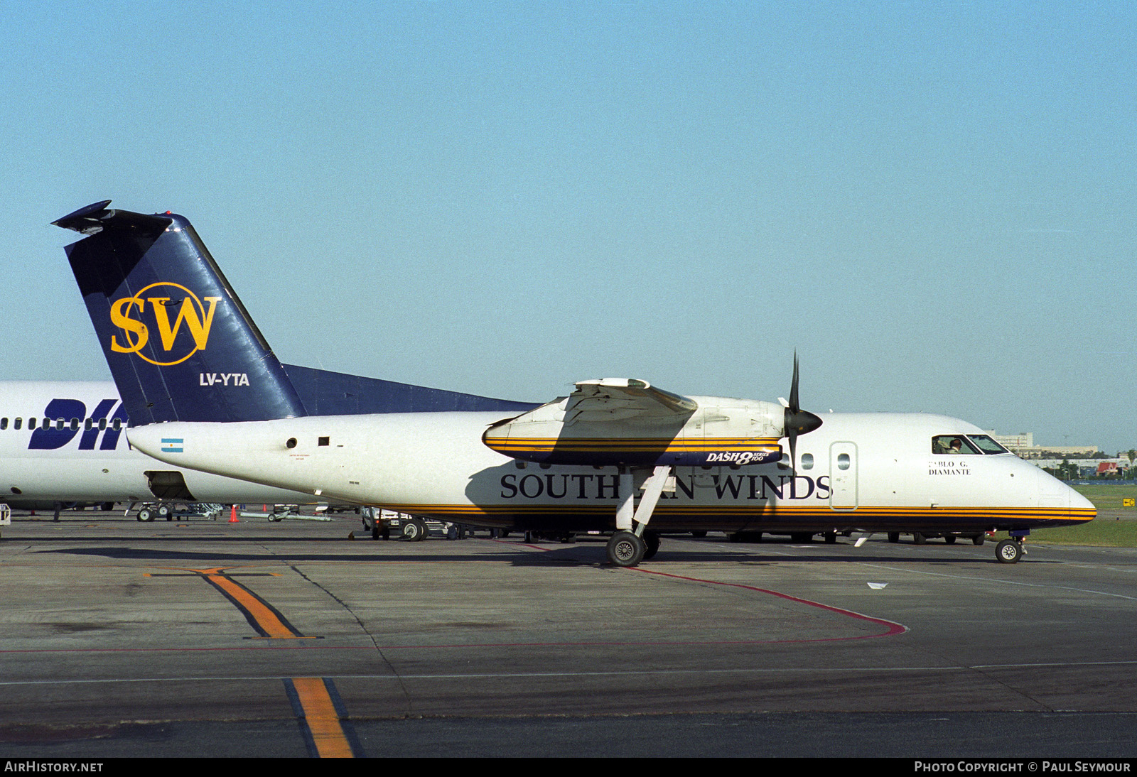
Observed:
[[[127,436],[167,463],[441,520],[615,530],[620,566],[654,555],[656,532],[706,529],[1007,529],[996,558],[1014,562],[1031,528],[1095,516],[956,418],[802,410],[796,359],[780,404],[606,378],[538,407],[468,395],[442,407],[415,394],[433,390],[388,384],[400,389],[379,412],[314,411],[189,222],[108,204],[56,224],[89,235],[67,253],[139,424]]]

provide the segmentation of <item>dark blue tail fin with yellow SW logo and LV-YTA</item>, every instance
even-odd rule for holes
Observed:
[[[67,257],[131,426],[533,407],[282,365],[184,217],[109,204],[52,223],[88,235]]]

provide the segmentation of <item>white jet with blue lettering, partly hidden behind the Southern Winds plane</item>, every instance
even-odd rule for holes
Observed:
[[[297,493],[180,467],[126,443],[126,415],[109,381],[0,381],[0,503],[141,503],[139,520],[172,502],[306,504]]]

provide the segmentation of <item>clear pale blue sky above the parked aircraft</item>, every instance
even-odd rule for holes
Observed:
[[[49,222],[189,217],[293,364],[1137,445],[1137,3],[0,2],[0,375]]]

